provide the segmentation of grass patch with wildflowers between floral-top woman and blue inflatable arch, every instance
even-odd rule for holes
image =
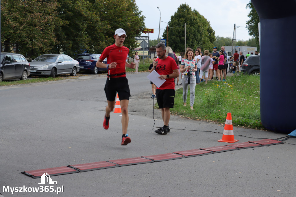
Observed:
[[[212,80],[196,85],[194,110],[190,109],[189,91],[187,106],[183,106],[183,88],[180,88],[176,91],[175,105],[170,111],[189,119],[219,123],[225,123],[227,113],[231,112],[233,125],[263,129],[259,82],[259,76],[239,75],[228,77],[226,82]]]

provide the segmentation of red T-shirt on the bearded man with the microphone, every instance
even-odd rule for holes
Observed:
[[[156,59],[157,67],[155,71],[160,75],[170,75],[173,73],[173,70],[178,69],[176,61],[167,56],[167,58],[161,60],[159,58]],[[165,90],[165,89],[175,89],[175,82],[173,78],[166,79],[165,83],[160,87],[156,87],[156,89]]]

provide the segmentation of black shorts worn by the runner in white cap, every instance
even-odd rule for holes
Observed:
[[[108,101],[115,101],[116,93],[118,93],[119,100],[129,100],[131,96],[128,79],[126,77],[110,78],[107,77],[105,85],[105,93]]]

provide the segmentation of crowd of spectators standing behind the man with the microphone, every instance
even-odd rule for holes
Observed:
[[[248,52],[249,54],[249,52]],[[255,51],[255,55],[258,54]],[[176,56],[173,50],[168,46],[166,47],[166,55],[170,56],[176,61],[179,72],[181,73],[181,83],[179,84],[179,77],[175,79],[176,85],[182,85],[183,87],[183,102],[184,106],[187,105],[187,92],[189,88],[190,92],[190,109],[193,109],[194,97],[195,97],[195,87],[200,83],[204,82],[207,84],[207,81],[213,80],[214,71],[216,74],[216,80],[226,81],[226,74],[228,70],[229,61],[233,61],[231,65],[232,72],[235,73],[236,69],[239,72],[239,65],[242,67],[244,62],[244,55],[242,51],[237,53],[235,51],[232,57],[227,55],[225,47],[222,46],[220,51],[217,51],[217,47],[213,48],[212,53],[209,50],[201,51],[200,47],[197,47],[196,50],[187,48],[185,55]],[[252,53],[249,55],[253,55]],[[246,55],[246,56],[249,56]],[[239,58],[240,56],[240,58]],[[153,58],[153,63],[158,57]],[[153,67],[153,63],[149,66],[149,71]],[[151,98],[156,98],[156,86],[150,82],[152,85],[152,96]]]

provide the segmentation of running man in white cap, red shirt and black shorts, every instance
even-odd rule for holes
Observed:
[[[123,46],[126,39],[126,32],[123,29],[115,30],[114,34],[115,44],[108,46],[104,49],[99,60],[96,62],[96,67],[108,69],[107,81],[105,85],[105,94],[107,97],[108,106],[106,106],[106,114],[104,116],[103,127],[109,128],[110,113],[115,107],[116,92],[120,100],[120,108],[122,113],[122,140],[121,145],[131,143],[131,138],[128,137],[128,101],[131,96],[126,78],[126,67],[135,68],[136,64],[126,62],[126,56],[129,49]],[[107,64],[102,61],[107,58]]]

